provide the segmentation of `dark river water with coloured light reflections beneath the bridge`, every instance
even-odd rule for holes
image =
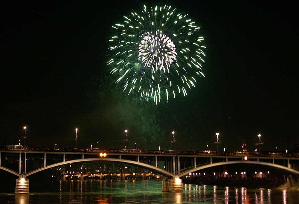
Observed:
[[[74,180],[30,183],[30,195],[0,194],[0,203],[299,203],[299,191],[185,185],[161,192],[161,180]]]

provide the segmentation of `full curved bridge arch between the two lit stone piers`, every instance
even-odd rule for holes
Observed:
[[[140,166],[140,167],[143,167],[143,168],[147,168],[147,169],[149,169],[151,171],[155,171],[155,172],[161,174],[162,176],[172,177],[172,178],[175,177],[174,174],[172,174],[172,173],[170,173],[168,171],[165,171],[164,169],[161,169],[161,168],[149,165],[149,164],[145,164],[145,163],[142,163],[142,162],[131,161],[131,160],[126,160],[126,159],[114,159],[114,158],[87,158],[87,159],[68,160],[68,161],[65,161],[65,162],[58,162],[58,163],[55,163],[55,164],[51,164],[51,165],[48,165],[48,166],[36,169],[34,171],[26,173],[24,176],[28,177],[28,176],[30,176],[32,174],[35,174],[35,173],[39,172],[39,171],[43,171],[43,170],[46,170],[48,168],[53,168],[53,167],[64,165],[64,164],[70,164],[70,163],[75,163],[75,162],[87,162],[87,161],[105,161],[105,162],[119,162],[119,163],[132,164],[132,165]],[[9,169],[7,169],[7,170],[9,170]],[[10,172],[10,173],[12,173],[12,172]]]

